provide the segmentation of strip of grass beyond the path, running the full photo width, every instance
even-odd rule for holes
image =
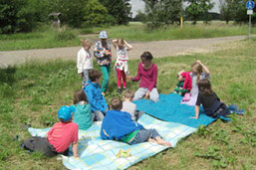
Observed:
[[[99,34],[101,30],[107,30],[111,39],[124,38],[128,41],[136,42],[215,38],[248,34],[247,25],[239,26],[233,23],[226,25],[224,22],[220,21],[212,22],[212,24],[209,25],[199,22],[195,26],[187,22],[182,29],[180,29],[179,26],[170,26],[154,31],[148,31],[145,25],[134,22],[129,23],[128,26],[68,30],[69,32],[64,33],[61,38],[58,38],[58,32],[49,28],[49,26],[43,26],[32,33],[2,35],[0,37],[0,51],[79,46],[80,34],[96,34],[95,36],[90,36],[89,39],[97,40],[97,34]],[[256,27],[252,28],[252,33],[256,34]],[[73,35],[72,38],[69,37],[71,34]]]

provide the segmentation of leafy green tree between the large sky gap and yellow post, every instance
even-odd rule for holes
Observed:
[[[179,21],[181,0],[144,0],[145,22],[150,29],[167,26]]]

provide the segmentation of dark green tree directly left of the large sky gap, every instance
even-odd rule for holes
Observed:
[[[100,0],[117,24],[128,24],[130,20],[129,0]]]

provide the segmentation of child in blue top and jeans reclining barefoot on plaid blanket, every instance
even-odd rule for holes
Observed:
[[[160,145],[171,146],[163,140],[155,129],[145,129],[131,119],[128,112],[121,111],[123,102],[114,98],[111,102],[111,110],[107,111],[102,123],[101,137],[104,140],[121,140],[128,144],[142,142],[154,142]]]

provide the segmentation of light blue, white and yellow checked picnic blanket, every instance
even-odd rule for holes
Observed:
[[[155,128],[165,140],[171,143],[172,147],[175,147],[178,140],[196,131],[196,128],[180,123],[161,121],[147,114],[143,114],[138,122],[145,128]],[[100,129],[101,122],[96,122],[88,130],[79,131],[80,159],[75,160],[73,156],[62,156],[63,164],[68,169],[126,169],[167,148],[148,142],[128,145],[118,141],[102,140]],[[49,130],[50,128],[29,128],[29,132],[33,136],[45,136]],[[129,149],[131,156],[128,158],[117,157],[120,149]],[[70,155],[73,155],[72,152]]]

